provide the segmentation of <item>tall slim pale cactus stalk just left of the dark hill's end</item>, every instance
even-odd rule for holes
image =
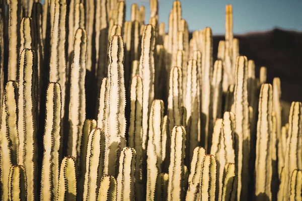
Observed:
[[[201,82],[201,141],[204,142],[205,149],[210,148],[211,141],[208,140],[209,135],[209,118],[211,116],[210,97],[211,97],[211,77],[213,68],[213,38],[211,28],[204,29],[203,50],[202,50],[202,82]]]

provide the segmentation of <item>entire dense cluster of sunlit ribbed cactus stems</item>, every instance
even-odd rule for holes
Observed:
[[[231,5],[213,61],[180,1],[167,26],[158,0],[148,24],[122,0],[0,3],[1,200],[302,199],[302,104],[240,56]]]

